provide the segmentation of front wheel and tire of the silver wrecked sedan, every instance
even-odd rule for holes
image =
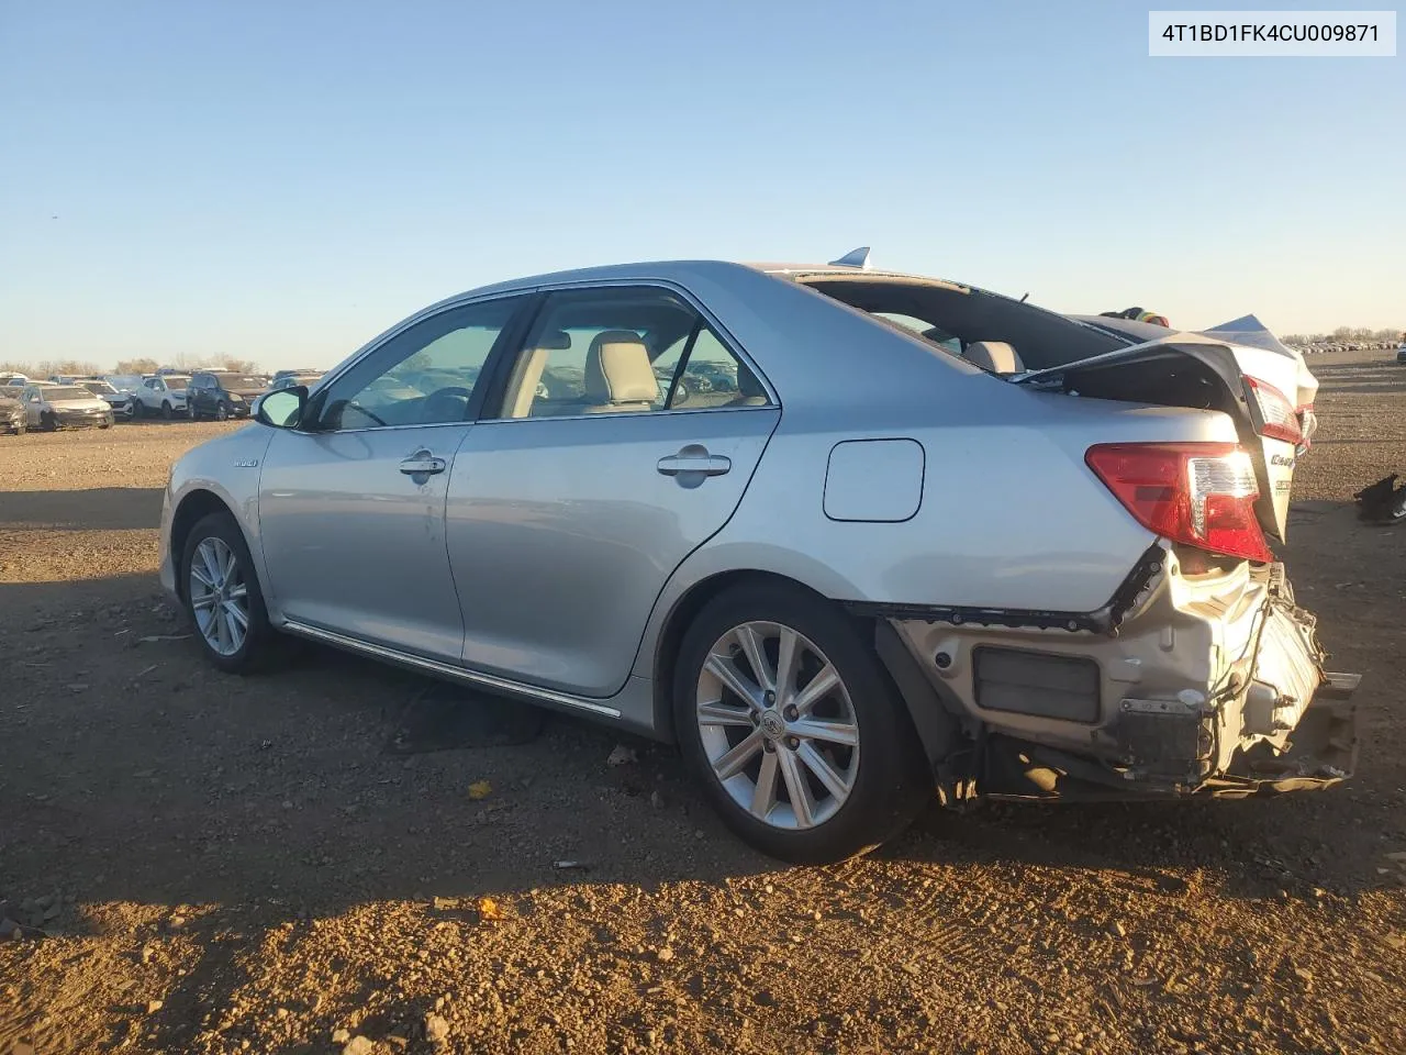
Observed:
[[[233,564],[226,564],[226,557]],[[197,561],[201,578],[193,578],[191,565]],[[269,625],[269,610],[259,589],[249,546],[233,516],[211,513],[191,528],[177,574],[186,615],[211,664],[231,674],[249,674],[267,668],[277,658],[281,641]],[[211,596],[215,603],[201,603]],[[226,606],[218,603],[221,598],[226,598]],[[236,634],[238,619],[226,615],[228,605],[238,606],[239,601],[243,601],[246,618],[242,639]]]

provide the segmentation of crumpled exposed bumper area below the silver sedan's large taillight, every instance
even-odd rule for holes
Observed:
[[[1358,675],[1326,670],[1282,565],[1195,575],[1166,550],[1108,633],[893,626],[966,733],[957,798],[1244,796],[1357,764]]]

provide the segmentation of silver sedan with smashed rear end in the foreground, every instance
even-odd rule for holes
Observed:
[[[162,582],[225,671],[292,634],[676,741],[792,861],[884,841],[934,789],[1343,781],[1355,678],[1271,550],[1302,362],[865,263],[426,308],[174,464]],[[412,356],[458,383],[409,388]],[[695,362],[737,392],[672,402],[659,373]]]

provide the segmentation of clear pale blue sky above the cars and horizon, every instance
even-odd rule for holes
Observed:
[[[860,243],[1406,326],[1406,59],[1149,59],[1147,8],[0,0],[0,360],[321,366],[495,279]]]

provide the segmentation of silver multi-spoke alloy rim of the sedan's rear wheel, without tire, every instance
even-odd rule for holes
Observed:
[[[849,799],[859,722],[839,671],[797,630],[748,622],[699,674],[695,713],[713,775],[756,820],[813,829]]]

